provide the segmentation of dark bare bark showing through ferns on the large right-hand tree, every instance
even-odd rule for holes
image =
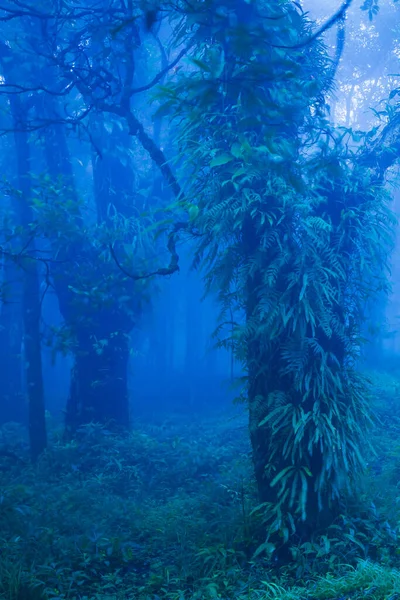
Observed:
[[[252,223],[251,219],[245,224],[243,241],[245,244],[245,250],[249,256],[256,255],[257,247],[259,245],[259,239],[257,231]],[[279,250],[278,250],[279,251]],[[271,250],[272,253],[272,250]],[[267,266],[267,265],[266,265]],[[288,266],[290,268],[290,265]],[[262,303],[262,272],[257,270],[254,275],[247,280],[247,302],[246,302],[246,321],[250,325],[258,322],[258,310]],[[321,332],[322,334],[322,332]],[[294,336],[295,334],[291,334]],[[311,331],[309,332],[311,336]],[[282,453],[276,453],[276,447],[274,444],[277,443],[276,437],[273,439],[273,431],[270,424],[260,426],[260,423],[265,417],[267,417],[271,411],[273,411],[277,404],[276,401],[272,400],[274,394],[280,394],[281,398],[285,398],[285,402],[290,402],[295,406],[302,406],[304,411],[312,411],[314,398],[303,402],[301,394],[296,390],[294,383],[294,373],[287,373],[281,375],[281,354],[280,354],[280,343],[282,342],[282,336],[275,340],[268,340],[268,342],[262,337],[256,337],[252,335],[251,339],[247,341],[246,354],[247,354],[247,373],[248,373],[248,407],[249,407],[249,430],[250,430],[250,441],[252,446],[252,458],[254,465],[254,473],[258,487],[259,499],[261,502],[270,503],[275,508],[282,502],[282,517],[278,517],[278,520],[282,520],[279,528],[284,529],[285,523],[285,511],[290,508],[289,500],[282,501],[279,495],[279,485],[272,486],[271,483],[276,475],[282,472],[285,468],[294,467],[295,469],[301,469],[307,466],[309,469],[309,475],[307,476],[307,500],[306,508],[307,514],[304,520],[297,519],[296,533],[301,536],[302,540],[309,540],[316,528],[325,521],[326,518],[331,516],[332,503],[325,502],[323,499],[323,509],[320,506],[318,492],[316,491],[316,482],[323,468],[323,454],[319,447],[313,447],[312,454],[307,451],[307,441],[304,443],[304,459],[302,464],[297,464],[298,459],[284,457]],[[325,340],[319,340],[324,345]],[[335,341],[326,340],[327,345],[335,344]],[[298,339],[299,349],[302,347],[301,338]],[[337,348],[329,348],[330,350],[336,350],[336,355],[341,358],[341,354]],[[284,435],[283,432],[282,435]],[[288,435],[291,432],[288,431]],[[290,443],[290,442],[289,442]],[[284,448],[284,441],[282,441],[282,449]],[[273,459],[271,460],[271,456]],[[280,538],[277,538],[278,542]],[[276,541],[276,540],[275,540]],[[288,540],[287,540],[288,541]],[[287,559],[288,547],[286,541],[280,544],[278,554],[281,558]]]

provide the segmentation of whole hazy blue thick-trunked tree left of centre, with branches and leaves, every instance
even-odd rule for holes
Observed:
[[[175,193],[179,189],[164,154],[131,107],[134,94],[176,64],[134,88],[141,15],[136,4],[115,0],[82,9],[69,3],[18,8],[11,3],[1,9],[1,19],[9,24],[9,53],[31,66],[23,85],[19,77],[8,77],[2,91],[32,105],[24,126],[37,132],[37,161],[48,174],[45,185],[36,187],[36,232],[55,259],[49,281],[74,355],[67,410],[71,430],[91,420],[128,425],[129,334],[146,301],[150,277],[169,275],[178,265],[171,236],[167,266],[146,254],[146,228],[152,223],[138,218],[142,200],[129,156],[134,137]],[[89,143],[92,147],[95,223],[85,218],[87,205],[77,193],[67,138],[71,131],[78,131],[88,150]]]

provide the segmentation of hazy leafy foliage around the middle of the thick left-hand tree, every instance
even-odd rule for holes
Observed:
[[[107,219],[93,222],[87,203],[75,198],[62,177],[57,181],[34,177],[34,181],[34,221],[28,230],[12,227],[6,249],[18,256],[20,266],[34,260],[29,240],[36,239],[43,249],[38,260],[46,267],[45,289],[53,286],[59,293],[65,318],[61,328],[45,330],[45,343],[55,352],[68,353],[76,347],[77,332],[90,330],[97,352],[113,337],[126,335],[155,290],[149,279],[134,279],[159,266],[154,220],[148,213],[128,218],[110,206]],[[107,311],[119,312],[127,326],[96,338]]]

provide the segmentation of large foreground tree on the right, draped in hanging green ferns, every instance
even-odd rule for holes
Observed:
[[[287,540],[363,468],[361,326],[387,286],[394,219],[359,165],[362,148],[348,150],[352,132],[325,116],[327,55],[299,47],[306,17],[290,3],[251,2],[239,22],[236,4],[186,7],[192,66],[163,90],[163,110],[179,118],[184,204],[196,263],[220,300],[220,343],[247,370],[269,532]]]

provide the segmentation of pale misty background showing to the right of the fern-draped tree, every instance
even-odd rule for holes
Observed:
[[[336,3],[322,6],[312,0],[304,4],[311,18],[324,21],[336,9]],[[396,110],[398,83],[398,22],[400,5],[392,0],[353,2],[347,12],[346,45],[337,69],[334,88],[326,101],[331,119],[340,126],[368,131],[382,126]],[[376,9],[379,8],[379,13]],[[335,43],[333,31],[326,43]],[[389,96],[391,99],[387,102]],[[391,179],[395,172],[391,172]],[[394,191],[393,210],[399,214]],[[389,354],[398,347],[398,270],[397,250],[391,259],[392,294],[371,307],[364,335],[370,343],[364,352],[370,365],[392,360]]]

